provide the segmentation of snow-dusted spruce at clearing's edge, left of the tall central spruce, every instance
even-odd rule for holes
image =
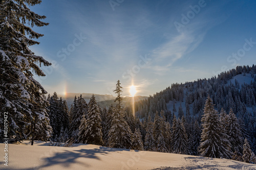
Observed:
[[[87,143],[102,145],[101,118],[94,95],[92,95],[89,102],[88,114],[86,117],[86,132],[84,136],[86,136]]]

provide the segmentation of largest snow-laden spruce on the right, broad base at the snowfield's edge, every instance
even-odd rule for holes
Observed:
[[[204,105],[204,114],[201,119],[202,134],[199,152],[201,156],[211,158],[231,158],[230,142],[224,138],[218,112],[208,95]]]

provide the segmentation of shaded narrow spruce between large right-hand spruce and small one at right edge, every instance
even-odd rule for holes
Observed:
[[[232,109],[230,109],[230,112],[227,117],[227,134],[228,134],[227,139],[231,144],[232,153],[236,152],[238,156],[242,156],[244,139],[241,133],[238,119],[236,115],[234,115]]]

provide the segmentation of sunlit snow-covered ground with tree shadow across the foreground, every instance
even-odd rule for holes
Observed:
[[[1,161],[0,169],[256,169],[256,165],[205,157],[134,151],[77,144],[74,147],[50,147],[49,143],[29,141],[9,144],[8,166]],[[3,143],[0,155],[4,156]]]

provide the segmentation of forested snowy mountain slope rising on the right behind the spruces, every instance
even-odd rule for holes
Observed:
[[[237,66],[217,77],[172,84],[148,99],[136,102],[135,111],[140,118],[154,117],[156,111],[164,110],[179,118],[187,114],[197,116],[200,122],[207,95],[218,111],[223,108],[228,113],[231,108],[238,117],[256,115],[256,66]]]

